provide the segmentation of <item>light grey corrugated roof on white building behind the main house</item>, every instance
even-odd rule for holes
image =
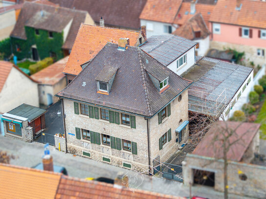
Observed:
[[[168,66],[195,45],[195,42],[175,35],[154,35],[140,47],[158,62]]]

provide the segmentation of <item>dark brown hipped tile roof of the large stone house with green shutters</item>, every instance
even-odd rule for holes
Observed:
[[[95,78],[104,66],[119,67],[109,95],[97,93]],[[145,72],[147,67],[156,68],[157,73],[167,72],[169,88],[160,93]],[[139,47],[127,46],[125,51],[120,51],[117,44],[108,43],[71,84],[57,95],[152,117],[191,84],[191,81],[179,77]]]

